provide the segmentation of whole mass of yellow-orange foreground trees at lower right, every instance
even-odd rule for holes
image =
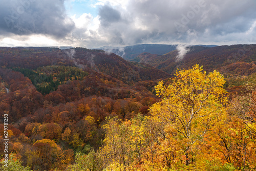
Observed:
[[[225,80],[219,72],[206,74],[195,65],[177,71],[169,82],[155,87],[162,99],[151,106],[149,116],[106,119],[98,151],[105,170],[256,168],[256,124],[227,113]],[[139,106],[129,104],[125,110],[130,112]],[[115,102],[114,112],[120,107]]]

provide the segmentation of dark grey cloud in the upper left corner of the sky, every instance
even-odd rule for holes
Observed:
[[[63,0],[1,0],[0,34],[46,34],[65,37],[74,22],[65,14]]]

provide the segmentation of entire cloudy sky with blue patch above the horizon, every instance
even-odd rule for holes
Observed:
[[[255,0],[1,0],[0,46],[256,44]]]

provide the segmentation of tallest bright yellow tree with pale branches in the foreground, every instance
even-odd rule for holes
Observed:
[[[195,161],[203,136],[221,115],[226,102],[224,77],[217,71],[206,74],[202,70],[195,65],[191,69],[177,71],[169,85],[160,81],[156,92],[162,100],[150,108],[152,119],[164,126],[162,143],[176,142],[180,146],[177,149],[183,151],[186,165]],[[164,152],[165,149],[168,151]],[[171,150],[166,147],[162,153],[168,154]],[[171,154],[170,159],[175,156]]]

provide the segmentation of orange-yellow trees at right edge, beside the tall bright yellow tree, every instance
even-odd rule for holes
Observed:
[[[256,168],[256,77],[244,85],[240,95],[234,95],[228,108],[230,121],[222,129],[221,138],[223,154],[227,162],[237,169]]]

